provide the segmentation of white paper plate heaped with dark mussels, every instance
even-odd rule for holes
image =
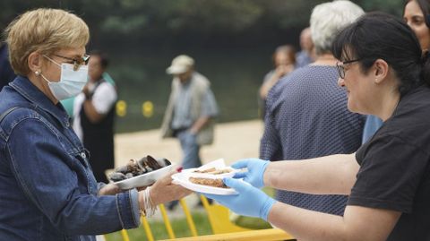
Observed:
[[[142,174],[140,176],[133,176],[119,182],[114,183],[122,190],[132,189],[134,187],[141,187],[145,185],[151,185],[155,183],[159,178],[168,175],[168,173],[173,170],[175,165],[168,165],[164,168],[159,168],[157,170]]]

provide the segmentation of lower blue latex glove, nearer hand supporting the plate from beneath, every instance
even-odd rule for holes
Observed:
[[[240,215],[257,217],[267,220],[271,206],[276,202],[260,189],[234,178],[224,178],[225,185],[232,187],[238,194],[216,195],[203,194],[228,207],[231,211]]]

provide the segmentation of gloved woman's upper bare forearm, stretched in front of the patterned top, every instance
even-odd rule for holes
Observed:
[[[306,194],[349,194],[356,181],[355,153],[271,162],[264,185]]]

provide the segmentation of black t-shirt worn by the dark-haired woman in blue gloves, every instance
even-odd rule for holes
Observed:
[[[402,212],[387,240],[430,240],[430,89],[400,99],[356,158],[348,205]]]

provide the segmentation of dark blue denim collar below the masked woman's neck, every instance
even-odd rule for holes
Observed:
[[[65,112],[63,105],[58,102],[54,105],[47,96],[40,91],[27,77],[17,76],[13,82],[9,83],[10,86],[25,99],[28,99],[30,103],[36,108],[41,108],[51,116],[54,116],[58,122],[63,125],[64,128],[70,126],[69,116]]]

